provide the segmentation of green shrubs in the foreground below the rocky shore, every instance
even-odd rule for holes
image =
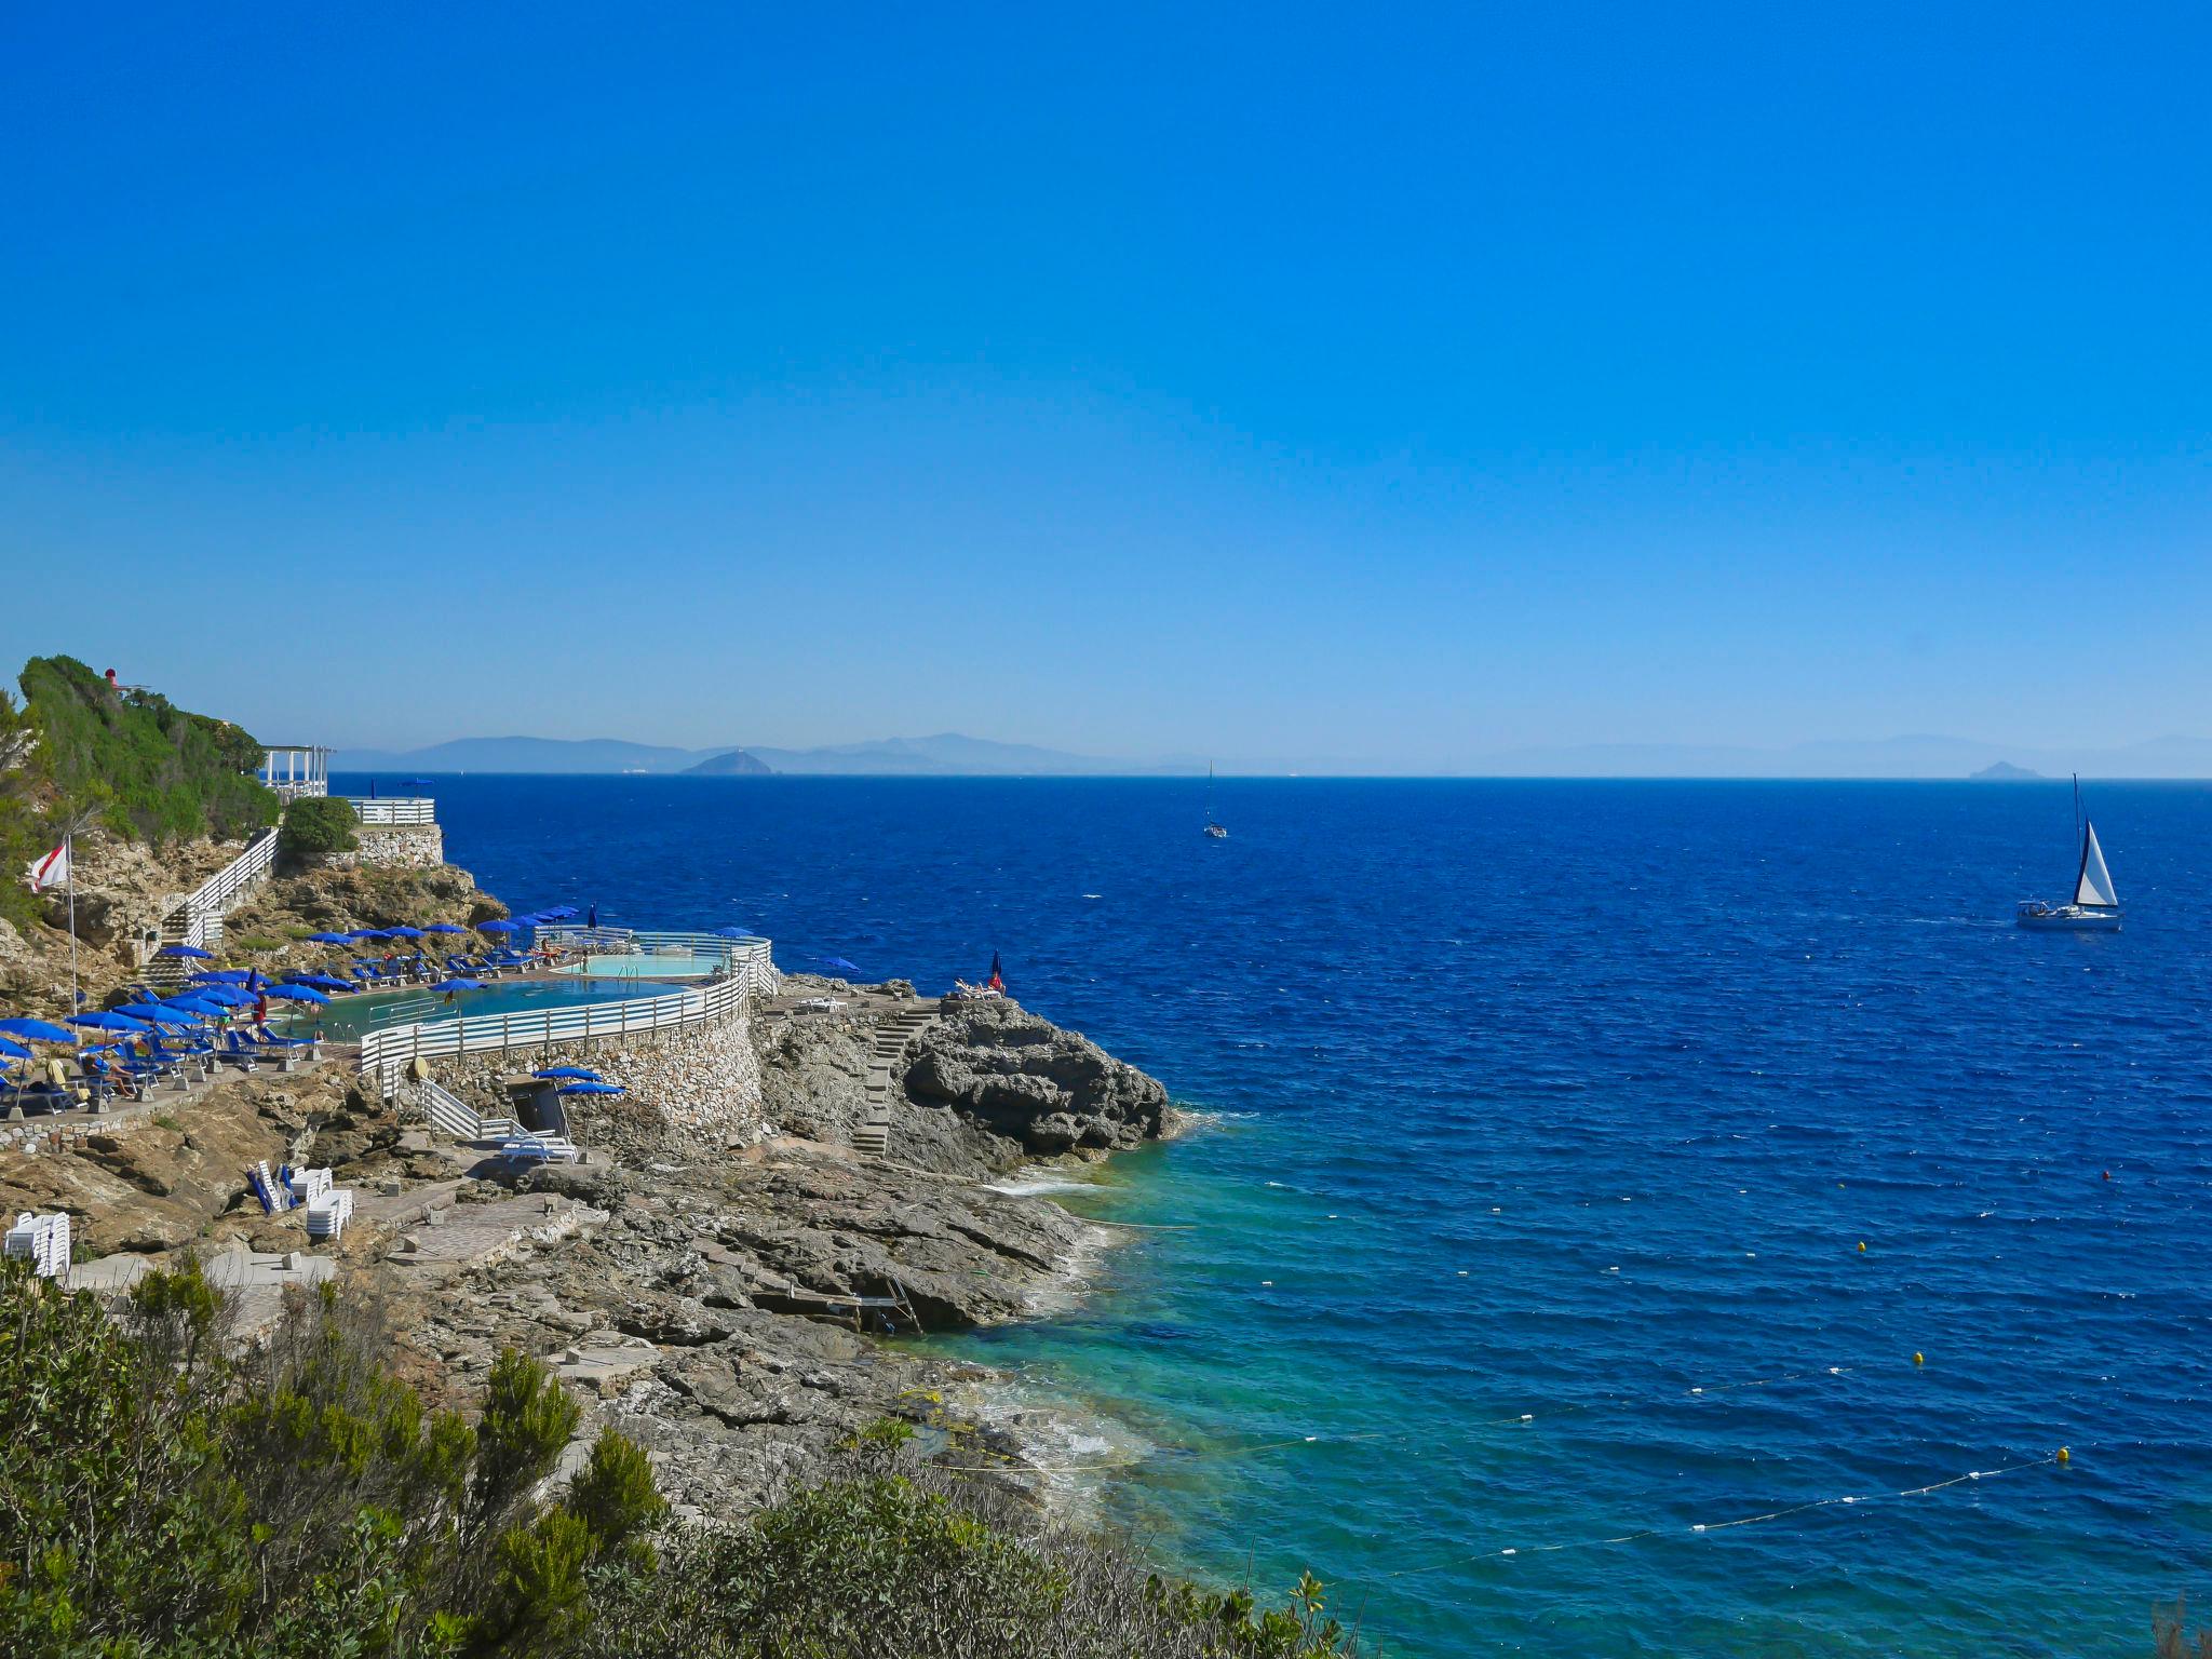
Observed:
[[[672,1524],[646,1453],[504,1354],[476,1422],[389,1369],[374,1307],[299,1296],[239,1356],[197,1267],[111,1321],[0,1265],[0,1652],[11,1659],[1318,1659],[1287,1608],[916,1460],[907,1425],[745,1524]]]

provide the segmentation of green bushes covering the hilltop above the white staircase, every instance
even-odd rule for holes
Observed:
[[[276,823],[252,776],[261,745],[230,721],[108,686],[73,657],[33,657],[18,684],[20,703],[0,692],[0,916],[35,914],[20,872],[64,821],[155,843]]]

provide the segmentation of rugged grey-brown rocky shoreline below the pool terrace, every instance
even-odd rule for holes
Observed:
[[[863,1155],[872,1053],[902,1015],[918,1031],[896,1055],[885,1150]],[[522,1060],[438,1082],[502,1113]],[[586,1161],[500,1164],[431,1135],[411,1088],[385,1104],[327,1060],[221,1082],[73,1148],[0,1152],[0,1208],[66,1208],[102,1254],[276,1259],[305,1248],[301,1223],[263,1217],[243,1166],[327,1164],[361,1194],[341,1290],[385,1303],[427,1394],[476,1396],[502,1347],[544,1356],[588,1400],[584,1433],[615,1422],[639,1440],[681,1513],[768,1502],[885,1416],[947,1462],[1037,1491],[1022,1413],[973,1409],[991,1374],[885,1338],[1077,1294],[1119,1234],[1004,1186],[1172,1133],[1157,1079],[1013,1002],[801,978],[723,1026],[526,1060],[630,1088],[571,1102],[586,1106],[571,1113]]]

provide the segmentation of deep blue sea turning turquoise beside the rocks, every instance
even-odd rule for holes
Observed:
[[[1144,1228],[1079,1312],[960,1343],[1117,1425],[1102,1500],[1186,1568],[1310,1566],[1398,1655],[2212,1606],[2212,790],[2090,792],[2128,925],[2079,938],[2011,925],[2064,785],[1225,781],[1228,843],[1199,790],[436,794],[522,907],[925,989],[998,949],[1210,1115],[1073,1199]]]

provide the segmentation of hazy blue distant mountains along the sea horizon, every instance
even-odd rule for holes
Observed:
[[[338,750],[338,772],[653,772],[695,776],[1199,776],[1206,761],[1150,761],[1068,754],[980,737],[889,737],[814,750],[721,745],[706,750],[622,739],[465,737],[425,750]],[[1223,774],[1369,776],[1398,768],[1349,759],[1237,759]],[[1498,750],[1447,768],[1449,776],[1517,779],[2212,779],[2212,741],[2157,737],[2106,750],[2028,750],[1962,737],[1891,737],[1871,743],[1820,741],[1790,748],[1692,743],[1590,743],[1548,750]]]

